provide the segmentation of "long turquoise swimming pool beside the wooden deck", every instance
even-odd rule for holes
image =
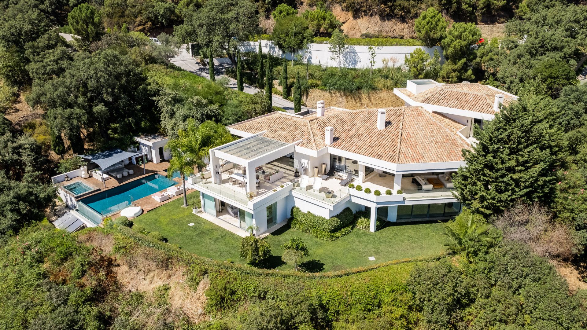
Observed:
[[[87,210],[85,210],[85,207],[79,206],[79,204],[85,204],[97,211],[97,213],[107,215],[122,210],[124,207],[129,206],[132,201],[147,197],[165,188],[175,186],[175,184],[176,181],[167,179],[159,174],[151,174],[143,179],[134,180],[103,191],[102,193],[83,198],[77,202],[78,211],[86,215],[85,213],[87,213]]]

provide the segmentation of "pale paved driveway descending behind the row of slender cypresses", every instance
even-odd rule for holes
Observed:
[[[216,61],[214,61],[216,62]],[[171,59],[171,63],[179,66],[181,69],[194,73],[194,75],[198,75],[204,78],[210,78],[210,73],[208,72],[207,66],[201,66],[200,63],[197,63],[194,58],[191,57],[190,53],[185,50],[185,45],[181,46],[181,53],[174,58]],[[214,75],[218,78],[225,76],[224,70],[230,68],[231,64],[215,64],[214,65]],[[237,80],[228,77],[228,87],[231,89],[237,89]],[[253,87],[251,85],[244,84],[243,91],[245,93],[254,94],[259,91],[257,87]],[[285,109],[289,113],[294,113],[294,102],[284,99],[281,96],[273,95],[273,105],[281,107]],[[302,106],[302,111],[311,109],[309,107]]]

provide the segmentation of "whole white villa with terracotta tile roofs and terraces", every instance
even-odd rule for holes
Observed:
[[[294,206],[327,218],[346,207],[367,210],[371,231],[377,218],[454,217],[461,205],[451,174],[465,165],[472,124],[483,126],[517,96],[434,80],[409,80],[394,93],[406,106],[346,110],[321,101],[317,111],[272,112],[228,126],[241,139],[211,149],[211,171],[188,180],[200,191],[203,217],[240,235],[250,225],[257,235],[274,231]]]

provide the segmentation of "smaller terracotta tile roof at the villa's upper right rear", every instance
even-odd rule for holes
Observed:
[[[493,104],[495,95],[504,95],[504,105],[508,105],[516,97],[480,83],[453,83],[432,87],[423,92],[414,94],[406,88],[398,88],[403,95],[419,103],[429,105],[451,107],[454,109],[469,110],[473,112],[495,115]]]

